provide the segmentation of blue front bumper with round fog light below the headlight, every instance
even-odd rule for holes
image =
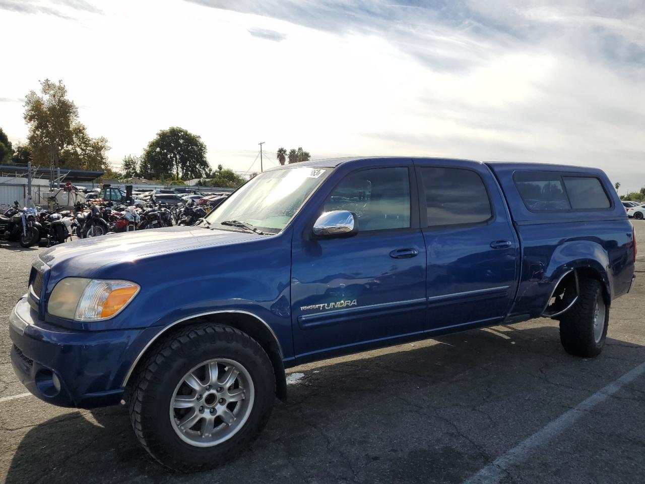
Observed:
[[[23,385],[48,403],[105,407],[121,401],[123,378],[148,341],[147,332],[156,330],[57,327],[40,321],[23,297],[9,317],[11,361]]]

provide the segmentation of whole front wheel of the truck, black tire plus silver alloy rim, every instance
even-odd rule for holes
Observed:
[[[263,348],[224,325],[187,327],[153,350],[132,387],[130,419],[152,457],[197,472],[236,458],[273,408],[275,376]]]

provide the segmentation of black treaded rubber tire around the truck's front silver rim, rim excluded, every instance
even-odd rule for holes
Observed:
[[[243,364],[253,380],[255,398],[237,433],[213,447],[197,447],[177,436],[170,421],[170,401],[186,372],[212,358]],[[261,432],[273,408],[275,375],[266,352],[248,334],[226,325],[202,323],[157,343],[135,375],[131,392],[130,420],[144,449],[172,470],[198,472],[233,461]]]

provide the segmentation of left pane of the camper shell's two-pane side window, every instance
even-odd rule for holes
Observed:
[[[513,177],[524,205],[533,212],[571,210],[562,179],[557,174],[520,172]]]

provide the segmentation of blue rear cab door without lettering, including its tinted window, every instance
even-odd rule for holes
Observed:
[[[415,164],[428,329],[499,321],[515,294],[519,243],[497,181],[473,161]]]

